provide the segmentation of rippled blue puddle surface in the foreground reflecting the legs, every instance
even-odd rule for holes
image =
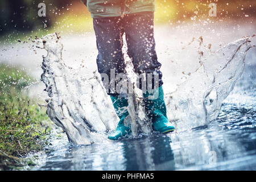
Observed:
[[[33,170],[255,170],[255,70],[246,65],[208,126],[88,146],[58,140]]]

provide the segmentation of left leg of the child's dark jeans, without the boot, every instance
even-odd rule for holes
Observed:
[[[109,84],[111,69],[114,69],[115,74],[125,73],[125,62],[122,53],[123,29],[118,19],[118,17],[93,18],[98,49],[98,72],[101,75],[105,74],[108,76]],[[110,88],[109,84],[105,85],[105,88]],[[118,95],[117,93],[111,93],[110,89],[106,91],[111,96]]]

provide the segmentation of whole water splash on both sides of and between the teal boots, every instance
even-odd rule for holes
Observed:
[[[63,45],[57,34],[45,36],[43,44],[48,54],[43,57],[41,80],[46,84],[49,96],[46,100],[49,118],[67,133],[72,142],[90,144],[106,141],[106,133],[115,129],[118,117],[100,74],[94,71],[93,76],[88,77],[84,69],[67,67],[61,55]],[[211,52],[200,38],[189,43],[180,55],[187,54],[191,48],[200,67],[189,73],[175,92],[166,92],[165,97],[168,118],[174,122],[177,131],[207,125],[217,117],[222,101],[242,75],[246,52],[251,45],[250,37],[246,37]],[[132,81],[135,76],[127,56],[126,61]],[[143,115],[141,98],[142,93],[138,89],[129,96],[130,117],[126,120],[132,125],[134,137],[141,131],[147,134],[152,131]]]

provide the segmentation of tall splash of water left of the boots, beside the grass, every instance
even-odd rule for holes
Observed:
[[[48,54],[43,57],[41,80],[46,84],[49,96],[49,118],[67,133],[72,142],[100,142],[102,134],[114,129],[117,121],[100,75],[94,72],[93,77],[87,78],[83,69],[67,67],[62,60],[63,46],[58,36],[47,35],[43,42]]]

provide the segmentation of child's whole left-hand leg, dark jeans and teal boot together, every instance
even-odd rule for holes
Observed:
[[[107,86],[110,88],[110,86],[112,86],[110,85],[111,69],[115,69],[115,74],[125,73],[125,62],[122,53],[122,25],[119,17],[94,18],[93,25],[98,48],[98,72],[101,73],[101,76],[103,73],[108,76],[109,84]],[[120,121],[118,122],[115,132],[108,138],[118,140],[119,138],[125,137],[127,134],[131,133],[130,127],[125,126],[124,123],[125,117],[128,115],[128,111],[125,110],[125,107],[128,105],[128,101],[127,98],[121,96],[118,97],[119,94],[117,92],[111,93],[110,91],[112,89],[107,89],[107,92],[110,95],[114,109],[117,112]]]

